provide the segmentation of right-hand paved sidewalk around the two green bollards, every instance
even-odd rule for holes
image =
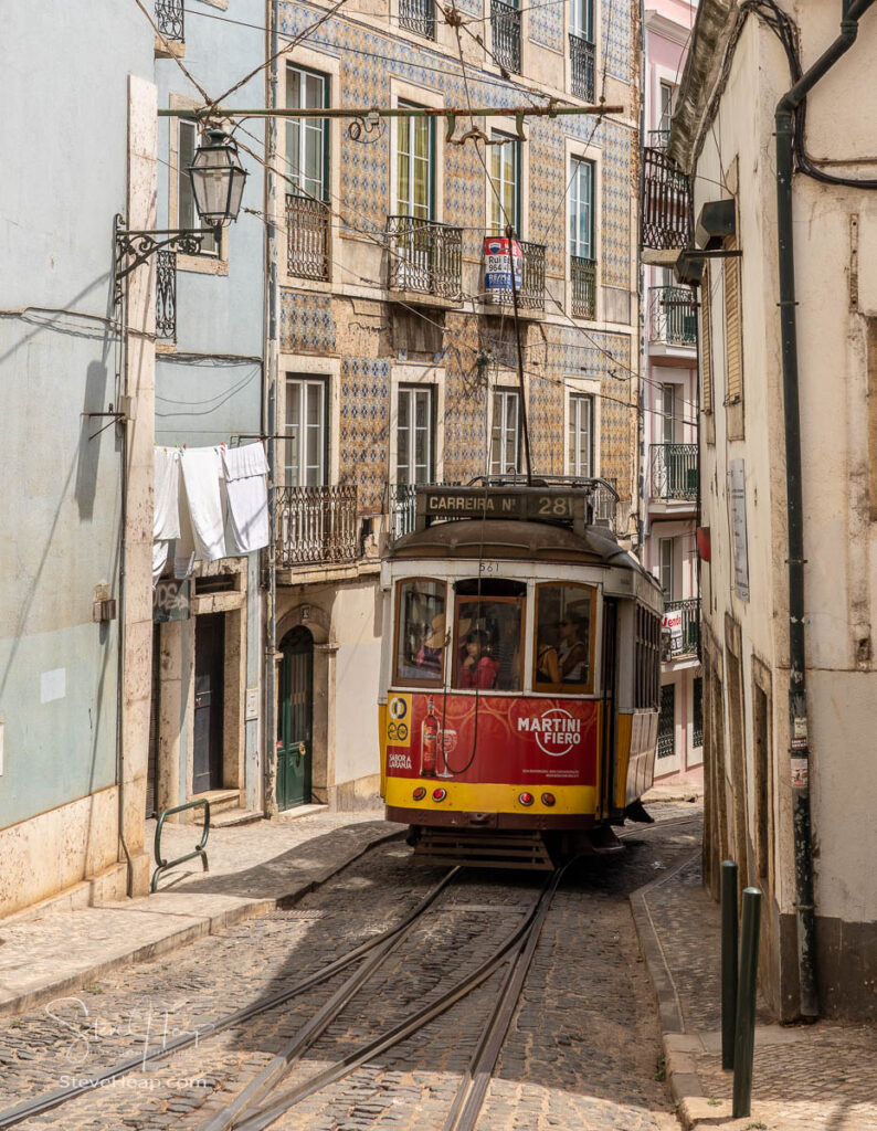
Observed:
[[[877,1131],[877,1031],[827,1020],[773,1025],[763,1004],[751,1115],[732,1120],[733,1074],[721,1059],[720,913],[700,886],[699,853],[630,901],[686,1129]]]

